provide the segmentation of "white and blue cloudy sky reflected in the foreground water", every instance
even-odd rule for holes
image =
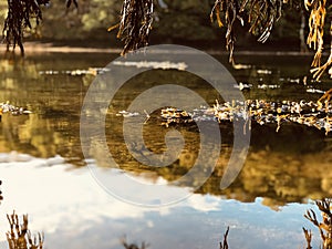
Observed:
[[[302,226],[311,228],[303,218],[305,205],[274,211],[261,198],[243,204],[195,194],[151,209],[107,195],[89,169],[72,169],[61,157],[0,154],[0,167],[1,243],[9,228],[4,215],[13,209],[29,214],[32,232],[44,231],[46,248],[122,248],[124,235],[128,242],[146,241],[151,248],[218,248],[227,226],[231,248],[302,248]],[[313,236],[315,246],[314,228]]]

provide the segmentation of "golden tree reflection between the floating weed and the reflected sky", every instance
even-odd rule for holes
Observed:
[[[114,115],[112,118],[115,118],[112,121],[114,125],[107,128],[106,134],[108,146],[104,148],[98,139],[91,139],[90,154],[96,159],[97,166],[115,167],[108,165],[107,158],[103,156],[102,152],[106,149],[123,170],[144,176],[152,183],[162,177],[169,184],[194,166],[199,152],[199,136],[195,127],[178,127],[186,141],[178,159],[167,167],[152,170],[137,163],[128,152],[121,132],[123,117]],[[166,148],[163,139],[167,129],[151,123],[144,127],[147,147],[155,153],[163,152]],[[264,127],[253,127],[250,152],[241,174],[229,188],[220,190],[220,180],[232,151],[228,143],[231,141],[229,128],[221,127],[221,133],[224,143],[218,163],[209,179],[196,193],[240,201],[255,201],[257,197],[262,197],[262,204],[273,209],[288,203],[331,196],[331,141],[324,134],[300,126],[286,126],[279,133],[274,133],[272,127],[268,131]],[[261,136],[262,133],[269,136]],[[79,137],[77,117],[70,122],[68,116],[56,118],[54,115],[49,117],[32,113],[22,116],[6,115],[0,123],[1,152],[17,151],[40,157],[61,155],[77,166],[84,164]],[[207,165],[209,157],[205,157]],[[205,168],[204,165],[201,167]],[[196,186],[201,174],[195,173],[196,178],[190,183],[180,183],[180,186]]]

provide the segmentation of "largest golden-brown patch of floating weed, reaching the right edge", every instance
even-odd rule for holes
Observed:
[[[219,104],[216,101],[214,107],[196,108],[193,112],[167,107],[163,108],[162,125],[168,127],[172,124],[186,124],[201,121],[234,122],[235,118],[243,121],[251,118],[259,125],[277,124],[276,132],[280,131],[283,123],[297,123],[325,131],[325,135],[332,128],[332,106],[322,105],[312,101],[294,102],[268,102],[263,100],[248,100]]]

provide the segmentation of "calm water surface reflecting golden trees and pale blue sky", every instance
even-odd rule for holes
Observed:
[[[228,226],[231,248],[304,247],[302,227],[312,226],[303,214],[314,208],[312,199],[332,194],[331,135],[301,125],[286,125],[278,133],[276,125],[255,126],[240,175],[221,190],[220,179],[232,148],[231,126],[222,126],[222,153],[209,179],[195,190],[187,183],[173,186],[172,181],[188,172],[197,158],[197,127],[176,127],[186,141],[178,159],[152,170],[128,153],[123,139],[124,117],[117,114],[145,90],[169,83],[190,87],[210,105],[221,100],[195,75],[154,70],[131,79],[107,110],[108,151],[121,168],[100,155],[98,141],[93,141],[90,156],[84,158],[80,142],[82,103],[95,73],[116,56],[50,53],[0,60],[0,102],[32,112],[3,114],[0,123],[4,197],[0,206],[1,248],[9,229],[6,214],[13,209],[29,214],[30,229],[44,232],[46,248],[122,248],[124,237],[128,242],[145,241],[151,248],[218,248]],[[226,56],[216,58],[229,68]],[[303,83],[310,56],[239,55],[237,60],[250,65],[229,68],[238,83],[250,85],[242,90],[247,98],[317,101],[320,91],[332,87],[331,81],[312,83],[310,76]],[[157,114],[143,132],[146,145],[163,153],[169,128],[160,125]],[[128,190],[123,177],[147,183],[152,189],[166,184],[188,198],[159,208],[131,205],[105,191],[87,164],[100,174],[111,173],[112,180],[131,195],[135,189]],[[313,246],[318,246],[319,231],[312,230]]]

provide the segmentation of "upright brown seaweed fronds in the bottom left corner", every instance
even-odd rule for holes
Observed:
[[[23,215],[23,222],[20,225],[19,217],[13,211],[12,215],[7,215],[10,231],[7,235],[9,249],[42,249],[44,242],[43,234],[38,232],[37,236],[31,236],[28,229],[28,215]]]

